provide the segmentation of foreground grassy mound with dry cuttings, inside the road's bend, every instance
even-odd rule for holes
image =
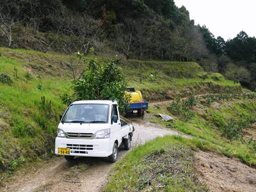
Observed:
[[[193,167],[199,140],[164,136],[134,148],[116,163],[104,191],[208,191]]]

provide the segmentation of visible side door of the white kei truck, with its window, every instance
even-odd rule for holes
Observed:
[[[116,104],[112,106],[111,120],[114,115],[118,116],[118,120],[116,123],[111,122],[112,124],[111,133],[113,134],[113,140],[118,140],[118,145],[120,145],[120,142],[122,140],[122,136],[121,136],[122,133],[121,133],[121,125],[120,125],[120,116],[118,115],[118,108]]]

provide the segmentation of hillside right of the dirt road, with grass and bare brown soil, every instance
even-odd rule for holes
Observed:
[[[178,136],[129,152],[111,172],[105,191],[253,191],[255,99],[256,93],[231,88],[153,102],[143,124]],[[164,122],[159,113],[175,120]]]

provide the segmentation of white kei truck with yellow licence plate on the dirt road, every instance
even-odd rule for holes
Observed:
[[[67,161],[74,157],[107,157],[114,163],[118,147],[131,147],[134,127],[120,118],[118,104],[111,100],[80,100],[61,116],[55,154]]]

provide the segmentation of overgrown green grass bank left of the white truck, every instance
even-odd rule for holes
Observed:
[[[0,83],[0,168],[13,171],[22,163],[52,153],[58,116],[65,106],[59,95],[70,91],[68,77],[41,77],[24,70],[25,63],[0,57],[0,72],[13,79]],[[29,78],[28,78],[29,73]],[[51,101],[51,116],[41,97]]]

